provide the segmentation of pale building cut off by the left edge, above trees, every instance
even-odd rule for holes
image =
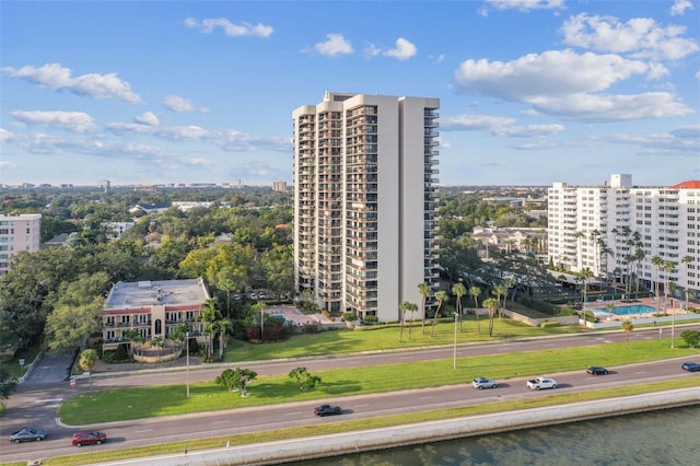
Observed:
[[[39,251],[42,214],[0,215],[0,277],[10,270],[10,256],[20,251]]]

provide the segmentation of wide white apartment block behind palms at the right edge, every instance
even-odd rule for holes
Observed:
[[[600,279],[633,273],[648,288],[669,282],[676,295],[687,289],[700,298],[700,182],[640,187],[623,174],[603,186],[555,183],[548,202],[555,266],[571,272],[590,268]],[[653,257],[674,263],[674,271],[655,267]]]

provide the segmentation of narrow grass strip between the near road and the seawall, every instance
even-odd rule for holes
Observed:
[[[246,445],[259,442],[275,442],[287,439],[299,439],[313,435],[325,435],[339,432],[350,432],[366,429],[377,429],[392,426],[410,424],[415,422],[428,422],[442,419],[453,419],[465,416],[478,416],[492,412],[513,411],[518,409],[530,409],[544,406],[564,405],[568,403],[588,401],[595,399],[614,398],[620,396],[638,395],[643,393],[665,392],[675,388],[687,388],[700,386],[700,378],[688,377],[679,380],[668,380],[663,382],[654,382],[639,385],[628,385],[614,388],[602,388],[595,391],[586,391],[571,394],[557,394],[540,396],[535,398],[515,399],[498,403],[485,403],[472,406],[452,407],[447,409],[417,411],[404,415],[384,416],[369,419],[358,420],[338,420],[334,422],[324,422],[317,426],[306,426],[293,429],[268,430],[264,432],[242,433],[229,436],[219,436],[213,439],[198,439],[196,441],[183,441],[173,443],[163,443],[158,445],[148,445],[140,447],[130,447],[122,450],[108,450],[97,453],[88,453],[80,455],[60,456],[55,458],[46,458],[42,464],[49,466],[72,466],[95,464],[105,462],[116,462],[128,458],[149,457],[166,454],[183,453],[185,448],[189,452],[223,448],[226,445]],[[16,463],[23,465],[24,463]],[[14,465],[14,464],[13,464]]]

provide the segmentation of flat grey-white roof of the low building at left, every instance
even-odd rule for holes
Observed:
[[[200,305],[209,298],[209,291],[201,277],[187,280],[119,281],[112,288],[104,308]]]

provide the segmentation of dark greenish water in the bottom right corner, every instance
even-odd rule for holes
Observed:
[[[296,466],[697,464],[700,464],[700,406],[293,463]]]

